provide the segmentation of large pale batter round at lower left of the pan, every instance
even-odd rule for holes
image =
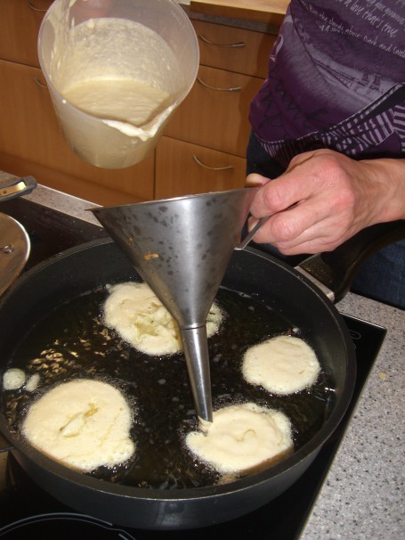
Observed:
[[[37,450],[77,470],[113,467],[134,454],[131,410],[122,393],[101,380],[59,384],[28,409],[22,433]]]

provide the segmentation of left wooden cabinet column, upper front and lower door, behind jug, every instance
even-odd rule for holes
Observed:
[[[0,0],[0,169],[99,204],[153,199],[153,152],[131,168],[96,168],[61,135],[37,56],[38,30],[51,4]]]

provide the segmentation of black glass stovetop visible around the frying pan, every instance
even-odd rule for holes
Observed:
[[[0,210],[20,221],[31,239],[28,268],[61,250],[84,241],[103,238],[107,234],[101,227],[67,214],[48,209],[30,200],[4,201]],[[146,531],[116,527],[77,514],[59,503],[38,487],[21,469],[12,454],[0,456],[0,538],[16,539],[36,537],[59,540],[85,537],[94,538],[155,538],[189,540],[190,538],[232,538],[235,540],[255,536],[257,540],[293,540],[300,536],[304,523],[312,511],[313,503],[328,473],[336,450],[344,436],[352,410],[368,378],[378,351],[385,339],[385,328],[344,315],[357,359],[356,385],[344,420],[322,446],[320,454],[304,475],[286,492],[271,503],[231,522],[192,531]]]

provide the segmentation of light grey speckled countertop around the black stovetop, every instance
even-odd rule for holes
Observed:
[[[91,202],[41,185],[26,197],[96,222],[85,212]],[[301,538],[400,540],[405,538],[405,312],[352,293],[337,307],[388,331]]]

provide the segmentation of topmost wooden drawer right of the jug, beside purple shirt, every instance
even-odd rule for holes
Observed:
[[[267,64],[276,36],[201,20],[192,23],[198,36],[200,64],[267,77]]]

